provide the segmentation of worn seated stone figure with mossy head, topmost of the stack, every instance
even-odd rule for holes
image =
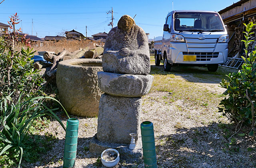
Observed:
[[[104,46],[102,67],[105,72],[149,74],[148,38],[130,16],[122,16],[118,26],[110,30]]]

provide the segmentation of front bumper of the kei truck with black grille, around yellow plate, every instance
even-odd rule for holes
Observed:
[[[186,61],[184,55],[196,55],[196,61]],[[227,58],[228,43],[216,43],[214,48],[187,48],[186,43],[171,42],[167,56],[172,64],[224,64]]]

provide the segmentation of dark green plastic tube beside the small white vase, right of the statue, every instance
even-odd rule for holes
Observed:
[[[142,137],[144,167],[157,168],[153,123],[150,121],[144,121],[140,124],[140,129]]]

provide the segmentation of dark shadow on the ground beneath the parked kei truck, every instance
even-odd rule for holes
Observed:
[[[165,72],[163,65],[151,65],[150,74],[174,74],[175,76],[181,76],[188,82],[218,84],[230,72],[237,72],[237,70],[219,66],[216,72],[209,72],[206,67],[173,66],[171,72]]]

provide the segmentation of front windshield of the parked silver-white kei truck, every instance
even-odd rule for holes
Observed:
[[[210,12],[176,12],[174,30],[190,32],[224,31],[220,17]]]

